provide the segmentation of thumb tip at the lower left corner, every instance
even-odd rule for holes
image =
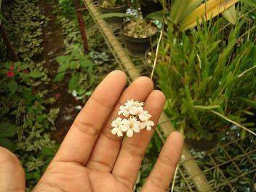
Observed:
[[[25,191],[25,172],[11,151],[0,147],[0,191]]]

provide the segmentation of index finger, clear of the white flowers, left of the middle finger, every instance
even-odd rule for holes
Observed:
[[[113,71],[105,77],[76,117],[53,161],[87,162],[126,82],[126,75],[121,71]]]

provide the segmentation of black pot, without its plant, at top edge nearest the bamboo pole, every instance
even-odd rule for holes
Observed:
[[[125,13],[127,12],[128,4],[124,4],[121,7],[100,7],[100,4],[98,5],[100,12],[103,14],[105,13]],[[108,23],[123,23],[124,18],[123,17],[108,17],[105,18],[105,21]]]

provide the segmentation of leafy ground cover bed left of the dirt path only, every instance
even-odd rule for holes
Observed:
[[[41,54],[42,27],[47,17],[36,5],[37,1],[3,1],[1,7],[12,45],[20,62],[8,60],[1,42],[1,134],[0,145],[14,151],[25,167],[30,190],[51,161],[57,144],[51,134],[59,108],[49,107],[55,102],[47,96],[48,70],[43,63],[35,63]]]

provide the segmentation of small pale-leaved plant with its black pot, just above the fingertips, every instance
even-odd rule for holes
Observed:
[[[132,57],[143,57],[151,47],[158,32],[156,24],[141,18],[133,18],[121,26],[125,47]]]

